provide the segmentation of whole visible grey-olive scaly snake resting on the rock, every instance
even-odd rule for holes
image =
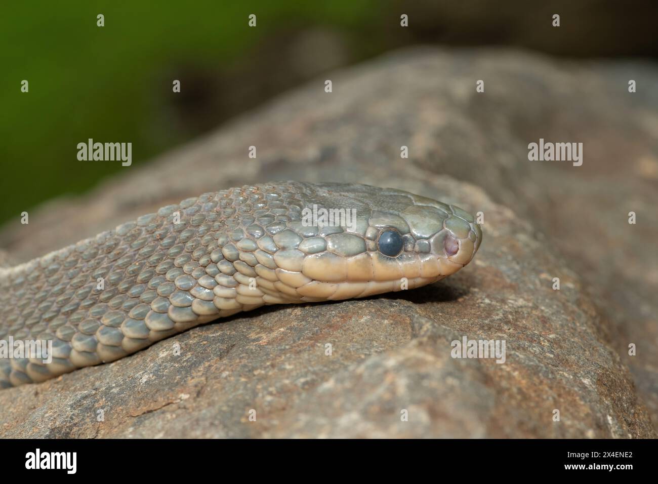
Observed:
[[[395,188],[286,181],[187,198],[0,268],[0,389],[261,306],[425,286],[481,242],[467,211]]]

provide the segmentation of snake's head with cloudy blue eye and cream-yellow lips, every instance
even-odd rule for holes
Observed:
[[[286,250],[296,243],[295,254],[303,253],[297,267],[309,281],[295,290],[307,300],[424,286],[467,265],[482,242],[474,217],[454,205],[392,188],[297,186],[301,220],[274,242]],[[283,261],[285,254],[274,257]]]

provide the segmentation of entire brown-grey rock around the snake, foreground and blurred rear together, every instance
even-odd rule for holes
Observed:
[[[655,437],[658,98],[647,86],[657,80],[643,63],[399,51],[30,213],[0,232],[17,259],[272,179],[393,186],[485,220],[474,261],[432,286],[258,309],[3,390],[0,435]],[[528,161],[539,138],[583,142],[582,167]],[[454,360],[450,342],[463,336],[504,339],[507,361]]]

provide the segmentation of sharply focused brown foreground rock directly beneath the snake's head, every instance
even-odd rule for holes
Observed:
[[[260,309],[3,390],[3,437],[652,437],[582,282],[530,224],[447,176],[418,188],[486,213],[486,243],[463,271]],[[505,340],[505,363],[451,358],[463,336]]]

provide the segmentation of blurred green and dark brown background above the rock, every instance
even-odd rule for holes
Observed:
[[[333,0],[5,3],[0,225],[126,170],[76,145],[132,142],[133,167],[336,67],[411,43],[655,57],[655,5]],[[619,5],[618,5],[619,4]],[[551,30],[551,14],[562,16]],[[97,27],[96,16],[105,15]],[[249,28],[248,15],[257,14]],[[409,28],[399,26],[409,14]],[[539,18],[540,22],[528,22]],[[537,28],[537,24],[544,24]],[[645,28],[649,27],[649,28]],[[172,92],[172,80],[182,92]],[[29,93],[20,92],[28,80]]]

